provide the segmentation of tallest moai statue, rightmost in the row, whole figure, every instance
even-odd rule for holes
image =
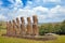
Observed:
[[[39,34],[39,29],[38,29],[38,19],[37,19],[36,15],[32,16],[32,20],[34,20],[34,24],[32,24],[32,34],[34,35],[38,35]]]

